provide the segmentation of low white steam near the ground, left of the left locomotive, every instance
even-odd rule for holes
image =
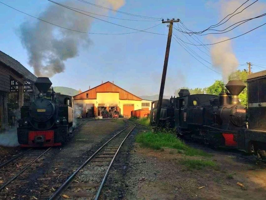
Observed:
[[[0,133],[0,146],[4,147],[17,147],[17,128],[12,128],[8,131]]]

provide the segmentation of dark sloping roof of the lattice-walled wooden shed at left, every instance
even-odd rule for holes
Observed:
[[[2,51],[0,51],[0,62],[12,68],[26,79],[29,79],[31,81],[36,81],[37,79],[37,77],[32,74],[27,68],[25,68],[20,62]]]

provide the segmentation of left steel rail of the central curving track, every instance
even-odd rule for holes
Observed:
[[[61,192],[63,192],[63,190],[65,190],[68,185],[70,184],[70,182],[72,181],[72,179],[75,177],[75,175],[87,164],[89,163],[90,160],[92,160],[98,153],[99,151],[101,151],[106,144],[108,144],[111,140],[113,140],[119,133],[121,133],[122,131],[126,130],[130,125],[128,124],[128,126],[126,128],[124,128],[123,130],[121,130],[120,132],[118,132],[116,135],[114,135],[111,139],[109,139],[106,143],[104,143],[94,154],[92,154],[92,156],[90,156],[66,181],[65,183],[63,183],[63,185],[61,185],[61,187],[59,189],[56,190],[56,192],[49,198],[49,200],[54,200],[54,199],[58,199]]]

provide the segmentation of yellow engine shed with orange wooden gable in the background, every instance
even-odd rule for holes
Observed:
[[[123,117],[131,117],[131,111],[151,109],[151,102],[118,87],[114,83],[106,82],[91,88],[74,97],[75,112],[80,109],[82,117],[97,117],[102,111],[117,110]]]

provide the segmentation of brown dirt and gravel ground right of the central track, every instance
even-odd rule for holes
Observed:
[[[202,149],[213,156],[196,159],[215,161],[217,167],[191,171],[180,163],[185,155],[173,153],[172,149],[156,151],[134,144],[124,199],[266,199],[264,163],[256,163],[253,157],[240,152]]]

